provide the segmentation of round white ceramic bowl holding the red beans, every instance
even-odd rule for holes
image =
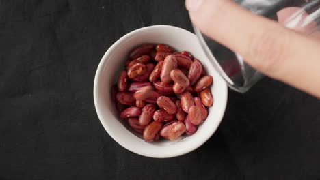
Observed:
[[[115,103],[111,100],[111,85],[122,67],[129,51],[144,43],[164,43],[178,51],[187,50],[200,59],[206,72],[213,76],[214,85],[211,89],[214,97],[213,106],[209,108],[206,121],[198,127],[193,136],[186,136],[170,142],[145,142],[140,134],[133,132],[126,122],[118,117]],[[144,27],[128,33],[115,42],[101,59],[94,79],[94,105],[98,117],[109,135],[122,147],[147,157],[175,157],[189,153],[208,140],[222,120],[227,102],[227,86],[224,80],[206,58],[196,35],[178,27],[157,25]]]

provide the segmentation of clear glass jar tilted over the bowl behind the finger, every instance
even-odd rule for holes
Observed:
[[[277,20],[278,11],[286,7],[299,7],[293,8],[295,11],[284,20],[284,25],[291,29],[303,29],[312,25],[303,31],[306,34],[319,30],[320,0],[235,0],[235,2],[256,14],[274,20]],[[231,89],[244,93],[263,78],[263,74],[245,63],[241,55],[206,37],[195,26],[194,31],[204,52]]]

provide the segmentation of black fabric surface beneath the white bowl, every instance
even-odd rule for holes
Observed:
[[[96,67],[149,25],[192,31],[182,0],[0,1],[0,179],[320,179],[320,101],[269,78],[229,91],[219,129],[187,155],[112,140],[94,110]]]

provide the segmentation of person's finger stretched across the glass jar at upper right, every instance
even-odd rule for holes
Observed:
[[[233,1],[187,0],[202,33],[239,53],[252,67],[320,97],[320,44],[257,16]],[[201,3],[202,2],[202,3]]]

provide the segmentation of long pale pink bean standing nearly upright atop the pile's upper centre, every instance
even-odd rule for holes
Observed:
[[[168,55],[167,57],[165,57],[160,74],[161,81],[166,84],[170,83],[172,81],[170,78],[170,72],[176,69],[176,67],[176,58],[173,55]]]

